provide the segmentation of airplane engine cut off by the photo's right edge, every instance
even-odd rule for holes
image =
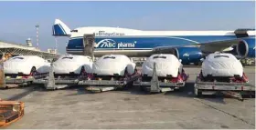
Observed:
[[[240,41],[236,46],[237,54],[245,57],[255,57],[255,38],[247,38]]]

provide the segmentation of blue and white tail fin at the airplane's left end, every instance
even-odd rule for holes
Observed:
[[[54,36],[70,36],[71,30],[68,25],[65,25],[59,19],[55,19],[54,25],[52,26],[52,35],[54,35]]]

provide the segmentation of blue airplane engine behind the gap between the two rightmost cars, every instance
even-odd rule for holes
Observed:
[[[178,47],[174,50],[174,55],[178,59],[182,60],[183,65],[188,65],[194,63],[195,65],[200,65],[203,55],[197,47]]]

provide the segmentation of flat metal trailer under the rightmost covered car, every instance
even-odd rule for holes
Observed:
[[[249,83],[204,82],[197,76],[194,85],[194,94],[203,95],[229,95],[243,101],[243,95],[255,97],[255,86]]]

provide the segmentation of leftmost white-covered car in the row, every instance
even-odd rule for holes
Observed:
[[[18,55],[4,62],[5,75],[32,75],[49,72],[50,63],[37,55]]]

